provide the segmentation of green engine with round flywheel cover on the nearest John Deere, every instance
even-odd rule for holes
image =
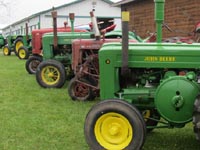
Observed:
[[[131,69],[127,76],[119,77],[120,99],[141,110],[156,108],[171,126],[182,127],[191,121],[199,70]]]

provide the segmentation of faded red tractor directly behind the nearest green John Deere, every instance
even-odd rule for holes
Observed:
[[[100,38],[93,12],[90,15],[96,39],[77,39],[72,43],[71,67],[75,77],[69,82],[68,93],[73,100],[92,100],[99,95],[98,51],[105,43],[122,42],[121,38],[107,38],[104,36],[107,31],[110,31],[109,28],[101,31],[103,38]],[[138,40],[134,36],[129,36],[129,42],[135,43]]]

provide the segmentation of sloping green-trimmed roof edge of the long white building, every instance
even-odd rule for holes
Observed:
[[[58,6],[58,7],[50,8],[50,9],[47,9],[47,10],[44,10],[44,11],[35,13],[35,14],[33,14],[33,15],[31,15],[31,16],[28,16],[28,17],[26,17],[26,18],[24,18],[24,19],[21,19],[21,20],[15,22],[15,23],[13,23],[13,24],[10,24],[10,25],[8,25],[8,26],[2,28],[2,29],[6,29],[6,28],[8,28],[8,27],[10,27],[10,26],[14,26],[14,25],[16,25],[16,24],[19,24],[20,22],[27,21],[27,20],[29,20],[29,19],[32,19],[32,18],[34,18],[34,17],[39,16],[40,14],[44,14],[44,13],[47,13],[47,12],[49,12],[49,11],[52,11],[53,9],[55,9],[55,10],[56,10],[56,9],[60,9],[60,8],[67,7],[67,6],[71,6],[71,5],[74,5],[74,4],[76,4],[76,3],[80,3],[80,2],[83,2],[83,1],[85,1],[85,0],[75,0],[75,1],[73,1],[73,2],[71,2],[71,3],[67,3],[67,4],[64,4],[64,5]],[[108,3],[108,4],[110,4],[110,5],[114,4],[114,2],[112,2],[112,1],[110,1],[110,0],[102,0],[102,1],[104,1],[104,2],[106,2],[106,3]]]

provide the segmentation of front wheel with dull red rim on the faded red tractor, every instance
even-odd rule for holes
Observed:
[[[76,78],[73,78],[68,84],[68,94],[71,97],[71,99],[78,101],[87,101],[94,99],[95,97],[92,92],[92,88],[85,84],[81,84],[76,80]],[[80,81],[92,85],[92,83],[87,78],[81,78]],[[77,92],[78,95],[76,94]]]

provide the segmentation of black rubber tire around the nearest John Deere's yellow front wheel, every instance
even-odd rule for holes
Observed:
[[[145,127],[144,119],[136,107],[134,107],[133,105],[129,104],[126,101],[122,101],[119,99],[110,99],[110,100],[101,101],[97,103],[95,106],[93,106],[88,112],[85,119],[84,133],[85,133],[85,138],[90,149],[92,150],[109,149],[109,147],[104,147],[104,145],[101,145],[99,141],[97,140],[98,135],[97,136],[95,135],[95,131],[96,131],[95,125],[97,124],[98,126],[98,121],[102,119],[101,117],[109,115],[109,113],[114,113],[114,114],[116,113],[126,118],[131,128],[134,130],[134,133],[131,137],[131,141],[128,143],[128,145],[126,147],[119,148],[119,149],[140,150],[144,144],[145,137],[146,137],[146,127]],[[112,123],[113,122],[109,122],[107,127],[109,125],[112,125]],[[125,128],[125,126],[122,128]],[[112,143],[109,143],[109,145],[110,144],[112,146],[118,146]]]

